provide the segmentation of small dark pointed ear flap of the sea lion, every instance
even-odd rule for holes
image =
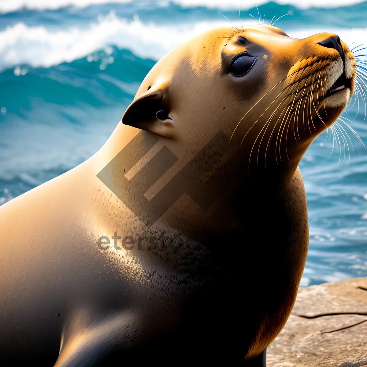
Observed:
[[[128,106],[122,117],[125,125],[154,132],[164,137],[172,137],[175,121],[170,115],[167,103],[168,83],[148,88],[139,98]]]

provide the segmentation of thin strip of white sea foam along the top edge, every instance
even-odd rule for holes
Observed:
[[[0,0],[0,12],[6,13],[17,11],[22,8],[29,10],[56,10],[66,6],[74,6],[78,8],[87,7],[95,4],[106,3],[130,3],[137,0]],[[348,6],[351,4],[362,3],[365,0],[273,0],[278,4],[286,4],[296,6],[298,8],[335,8],[339,6]],[[159,0],[157,7],[167,6],[170,2],[176,3],[182,7],[203,6],[207,8],[219,9],[241,9],[246,10],[254,7],[252,0]],[[256,4],[262,5],[269,0],[256,0]]]

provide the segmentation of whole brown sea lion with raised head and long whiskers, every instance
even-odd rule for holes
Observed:
[[[0,208],[0,360],[265,365],[308,248],[298,163],[353,93],[335,34],[210,30],[103,147]]]

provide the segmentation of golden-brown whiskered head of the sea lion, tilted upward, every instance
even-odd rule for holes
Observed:
[[[193,152],[222,131],[241,147],[241,168],[284,178],[346,107],[355,73],[353,53],[335,34],[214,29],[157,62],[122,122]]]

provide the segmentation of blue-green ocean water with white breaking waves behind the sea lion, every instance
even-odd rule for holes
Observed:
[[[276,25],[292,37],[367,40],[367,2],[257,4],[265,23],[287,14]],[[0,205],[94,154],[155,62],[195,34],[228,26],[218,11],[239,24],[240,8],[243,24],[255,23],[249,0],[0,0]],[[340,122],[339,136],[320,135],[300,164],[310,226],[302,286],[367,276],[362,95],[343,116],[361,141]]]

